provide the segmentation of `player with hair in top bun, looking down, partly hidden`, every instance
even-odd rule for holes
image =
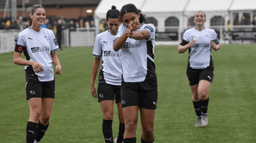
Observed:
[[[115,6],[107,12],[106,22],[109,30],[97,35],[92,56],[95,57],[92,67],[91,93],[98,98],[102,106],[103,124],[102,131],[106,143],[113,142],[112,121],[113,121],[113,104],[116,99],[118,108],[119,134],[116,142],[123,142],[123,133],[125,132],[125,121],[121,108],[121,52],[113,50],[113,40],[118,32],[120,25],[120,11]],[[100,57],[102,57],[102,68],[100,68],[98,95],[94,86],[98,68],[100,67]]]

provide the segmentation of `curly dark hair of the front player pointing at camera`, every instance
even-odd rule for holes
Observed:
[[[120,11],[121,20],[123,21],[123,15],[126,13],[134,12],[135,14],[140,14],[140,23],[146,23],[146,16],[141,13],[140,9],[137,9],[134,4],[126,4],[122,7]]]

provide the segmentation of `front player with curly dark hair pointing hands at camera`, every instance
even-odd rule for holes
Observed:
[[[154,111],[158,100],[158,86],[154,67],[153,24],[133,4],[126,4],[120,12],[123,24],[115,37],[113,49],[122,53],[123,79],[121,103],[125,116],[124,143],[136,142],[138,110],[140,109],[141,142],[154,141]]]

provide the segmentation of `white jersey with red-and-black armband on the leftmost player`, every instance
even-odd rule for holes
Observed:
[[[52,30],[42,28],[36,32],[29,27],[19,33],[14,51],[24,52],[26,60],[40,63],[44,69],[44,71],[36,73],[29,65],[25,66],[26,72],[36,74],[39,81],[52,81],[54,80],[54,69],[50,53],[57,50],[59,50],[59,46]]]

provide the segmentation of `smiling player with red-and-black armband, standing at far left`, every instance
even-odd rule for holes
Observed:
[[[26,71],[26,92],[30,116],[27,122],[27,143],[39,142],[49,126],[50,112],[55,97],[55,73],[62,68],[56,51],[59,50],[54,33],[41,28],[44,24],[44,7],[36,4],[29,13],[29,26],[19,33],[14,50],[14,63],[24,65]],[[26,60],[21,58],[24,52]],[[40,119],[40,120],[39,120]]]

